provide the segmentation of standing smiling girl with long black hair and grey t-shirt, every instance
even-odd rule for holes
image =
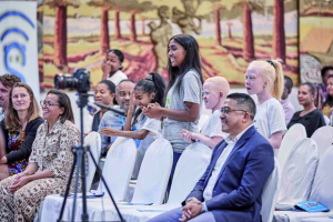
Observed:
[[[170,141],[173,148],[173,164],[175,164],[189,145],[180,137],[184,129],[199,132],[198,122],[202,103],[202,73],[199,56],[199,44],[189,34],[178,34],[170,39],[168,47],[169,85],[165,108],[150,104],[143,113],[153,119],[163,120],[163,138]]]

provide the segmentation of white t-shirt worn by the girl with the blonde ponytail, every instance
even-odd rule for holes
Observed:
[[[272,134],[279,131],[286,131],[285,114],[282,104],[271,98],[261,104],[256,104],[254,127],[265,139],[271,139]]]

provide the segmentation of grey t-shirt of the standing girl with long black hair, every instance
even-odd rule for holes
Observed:
[[[178,82],[178,80],[175,81]],[[194,70],[186,72],[182,80],[180,92],[175,91],[175,84],[169,90],[167,95],[168,109],[172,110],[185,110],[184,102],[192,102],[202,105],[202,83],[200,81],[199,73]],[[199,132],[198,122],[200,114],[194,122],[181,122],[171,118],[164,118],[163,120],[163,138],[170,141],[173,152],[182,153],[189,145],[181,137],[180,132],[182,129],[191,132]]]

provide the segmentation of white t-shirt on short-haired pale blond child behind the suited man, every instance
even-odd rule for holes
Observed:
[[[222,123],[221,123],[220,115],[221,115],[220,110],[215,110],[204,122],[200,133],[204,134],[208,138],[222,137],[223,139],[225,139],[228,137],[228,133],[222,131]]]

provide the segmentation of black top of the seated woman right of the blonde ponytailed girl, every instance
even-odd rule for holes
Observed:
[[[311,138],[311,135],[314,133],[316,129],[326,125],[326,122],[324,120],[321,110],[315,109],[303,117],[300,117],[301,112],[302,111],[294,113],[293,118],[287,124],[287,129],[290,129],[295,123],[301,123],[302,125],[304,125],[306,130],[307,138]]]

